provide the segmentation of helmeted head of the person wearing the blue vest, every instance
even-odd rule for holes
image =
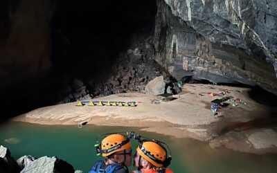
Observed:
[[[122,134],[111,134],[103,138],[100,153],[111,164],[119,163],[125,166],[132,164],[132,148],[129,138]]]

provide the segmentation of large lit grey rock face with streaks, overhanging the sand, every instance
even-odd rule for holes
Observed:
[[[175,78],[258,84],[277,93],[277,1],[157,0],[157,6],[155,60]]]

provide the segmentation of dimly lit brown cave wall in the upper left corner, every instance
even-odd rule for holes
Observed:
[[[54,1],[2,1],[1,87],[39,75],[51,67],[51,17]]]

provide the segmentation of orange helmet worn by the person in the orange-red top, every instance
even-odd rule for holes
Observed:
[[[167,160],[167,152],[164,147],[154,141],[143,141],[136,147],[136,152],[152,163],[155,167],[163,167]]]

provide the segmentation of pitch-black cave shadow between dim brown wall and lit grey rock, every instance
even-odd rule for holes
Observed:
[[[32,3],[30,1],[29,5],[36,6]],[[1,5],[0,43],[4,47],[12,28],[9,15],[21,5],[19,1],[1,1]],[[59,94],[74,78],[96,83],[105,80],[120,52],[127,51],[135,39],[153,35],[157,12],[154,0],[61,0],[51,1],[49,8],[53,10],[52,17],[46,21],[51,40],[51,66],[14,80],[2,74],[1,98],[5,99],[1,100],[1,120],[59,102]],[[19,34],[24,33],[19,31]],[[14,69],[12,73],[24,73],[24,69]],[[14,106],[16,108],[11,109]]]

